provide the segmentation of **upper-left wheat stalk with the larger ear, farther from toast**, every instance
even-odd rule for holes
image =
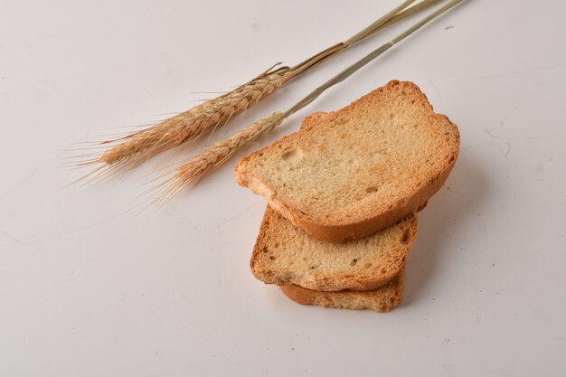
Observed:
[[[258,103],[288,80],[313,70],[316,66],[334,56],[335,53],[391,26],[391,24],[396,24],[412,14],[437,4],[439,1],[441,0],[424,0],[420,4],[413,5],[403,11],[415,2],[415,0],[404,1],[391,12],[364,28],[360,33],[316,53],[307,61],[302,61],[294,67],[285,66],[276,70],[271,68],[239,88],[216,99],[205,101],[203,104],[175,117],[165,119],[156,126],[137,131],[126,137],[104,141],[101,143],[103,146],[110,145],[105,152],[77,165],[101,165],[101,167],[109,168],[127,164],[138,165],[161,152],[194,141],[205,131],[227,122],[231,117]],[[95,170],[95,172],[98,170]]]

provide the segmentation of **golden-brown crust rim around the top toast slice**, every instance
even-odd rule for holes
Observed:
[[[348,213],[347,217],[344,216],[328,221],[322,213],[307,213],[302,208],[288,204],[275,187],[266,184],[248,168],[251,160],[263,156],[266,151],[290,143],[300,145],[306,133],[316,132],[318,128],[325,127],[325,125],[337,117],[347,116],[349,113],[357,111],[356,109],[371,107],[372,101],[376,96],[384,96],[385,94],[383,93],[394,90],[399,86],[401,86],[403,93],[407,93],[406,96],[412,100],[412,103],[416,103],[417,106],[426,110],[425,123],[429,127],[434,127],[439,135],[446,137],[447,146],[446,150],[442,151],[444,159],[440,163],[441,168],[436,169],[433,173],[424,175],[422,182],[418,186],[410,188],[410,194],[398,198],[391,205],[382,208],[370,205],[362,211]],[[450,174],[452,167],[456,163],[458,151],[458,127],[450,122],[446,116],[435,114],[427,97],[415,84],[392,80],[386,86],[374,90],[361,99],[357,99],[345,108],[332,113],[315,113],[305,118],[300,131],[283,137],[272,145],[252,153],[250,156],[243,157],[235,167],[235,179],[238,184],[249,187],[252,192],[265,196],[272,208],[288,218],[294,225],[301,227],[307,234],[318,240],[343,243],[348,240],[357,240],[375,231],[385,229],[396,221],[410,215],[410,213],[418,212],[429,198],[439,191],[442,184],[446,182],[448,174]]]

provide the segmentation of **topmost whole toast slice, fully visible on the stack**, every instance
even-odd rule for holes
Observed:
[[[307,117],[301,130],[243,157],[235,178],[309,235],[344,242],[418,211],[458,150],[458,128],[415,84],[391,81]]]

